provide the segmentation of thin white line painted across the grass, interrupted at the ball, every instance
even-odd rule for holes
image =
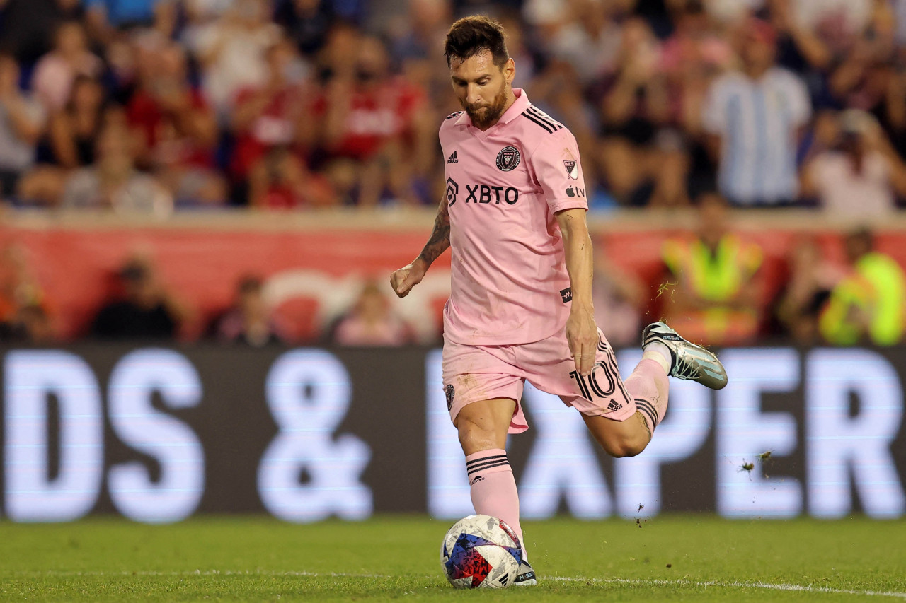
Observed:
[[[352,574],[344,572],[313,572],[313,571],[232,571],[232,570],[194,570],[194,571],[18,571],[10,572],[16,576],[48,576],[61,578],[78,578],[86,577],[128,577],[128,576],[151,576],[151,577],[179,577],[187,578],[191,576],[298,576],[302,578],[400,578],[390,574]],[[7,574],[8,575],[8,574]],[[832,589],[830,587],[814,586],[812,584],[776,584],[771,582],[740,582],[720,581],[720,580],[689,580],[689,579],[636,579],[636,578],[572,578],[566,576],[541,576],[544,580],[556,580],[561,582],[592,582],[594,584],[635,584],[640,586],[691,586],[698,588],[731,588],[731,589],[767,589],[767,590],[786,590],[798,592],[827,593],[832,595],[863,595],[865,597],[891,597],[906,599],[906,592],[890,592],[880,590],[851,590],[851,589]]]

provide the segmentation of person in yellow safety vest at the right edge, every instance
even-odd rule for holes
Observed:
[[[852,273],[834,286],[818,328],[829,343],[878,346],[899,343],[903,336],[906,277],[889,255],[874,251],[874,236],[860,229],[846,236]]]

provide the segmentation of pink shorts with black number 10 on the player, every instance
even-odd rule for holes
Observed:
[[[509,397],[516,400],[511,434],[528,429],[521,404],[525,379],[585,415],[625,421],[635,414],[613,349],[600,329],[594,369],[588,377],[576,372],[565,331],[516,346],[470,346],[445,338],[442,370],[451,420],[472,402]]]

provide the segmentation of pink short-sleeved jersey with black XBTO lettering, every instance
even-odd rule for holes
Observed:
[[[516,345],[564,328],[572,299],[554,214],[588,208],[573,134],[528,101],[481,131],[466,112],[440,126],[452,254],[449,340]]]

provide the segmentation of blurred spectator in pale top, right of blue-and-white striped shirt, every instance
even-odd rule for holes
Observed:
[[[837,118],[836,144],[803,168],[802,193],[831,215],[882,217],[906,197],[906,166],[872,115],[850,109]]]

